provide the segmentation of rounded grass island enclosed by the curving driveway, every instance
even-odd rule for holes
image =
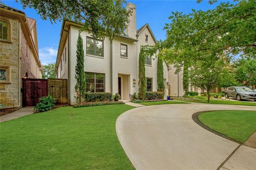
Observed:
[[[242,143],[256,130],[255,111],[214,111],[202,113],[198,118],[209,128]]]

